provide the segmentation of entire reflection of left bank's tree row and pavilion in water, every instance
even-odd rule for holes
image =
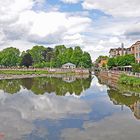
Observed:
[[[29,78],[21,80],[1,80],[0,89],[7,93],[17,93],[22,88],[31,90],[35,94],[56,93],[57,95],[75,94],[80,95],[90,87],[91,77],[86,76],[61,76]]]

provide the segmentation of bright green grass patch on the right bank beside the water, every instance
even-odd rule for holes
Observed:
[[[140,88],[140,78],[127,76],[125,74],[122,74],[120,76],[119,83]]]

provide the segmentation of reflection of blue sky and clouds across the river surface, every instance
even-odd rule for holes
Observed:
[[[107,87],[99,84],[96,77],[80,98],[47,93],[35,95],[26,89],[13,95],[0,91],[0,111],[0,132],[8,140],[90,140],[94,136],[102,140],[103,136],[111,139],[119,135],[120,127],[127,121],[128,130],[131,127],[135,130],[134,125],[139,127],[127,108],[121,111],[120,106],[113,105],[107,96]],[[116,129],[111,129],[111,123]]]

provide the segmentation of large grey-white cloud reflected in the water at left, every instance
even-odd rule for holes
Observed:
[[[73,114],[87,114],[90,111],[86,101],[75,97],[35,95],[26,90],[10,95],[0,91],[0,130],[7,140],[22,139],[23,136],[35,132],[35,129],[40,130],[41,128],[36,128],[33,123],[36,120],[55,121]],[[37,136],[45,138],[48,131],[41,130],[37,131]]]

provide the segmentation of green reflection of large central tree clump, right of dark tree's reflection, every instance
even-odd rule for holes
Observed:
[[[45,92],[55,92],[57,95],[65,95],[75,93],[80,95],[83,90],[90,87],[91,78],[76,79],[71,83],[67,83],[62,78],[34,78],[31,90],[35,94],[44,94]]]

